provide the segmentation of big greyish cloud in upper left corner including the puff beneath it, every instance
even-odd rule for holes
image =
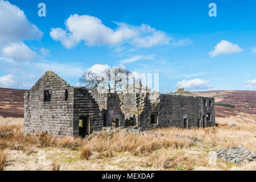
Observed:
[[[0,52],[15,60],[31,60],[35,52],[24,40],[40,40],[43,36],[38,27],[31,24],[19,7],[0,0]]]

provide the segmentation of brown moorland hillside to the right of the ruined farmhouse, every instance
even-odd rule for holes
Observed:
[[[204,97],[214,97],[217,103],[236,106],[236,108],[215,106],[217,121],[256,122],[256,91],[221,90],[193,93]]]

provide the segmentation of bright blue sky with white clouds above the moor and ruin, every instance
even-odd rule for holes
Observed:
[[[85,70],[122,64],[159,73],[162,93],[256,90],[255,9],[253,0],[0,0],[0,87],[29,89],[47,70],[80,85]]]

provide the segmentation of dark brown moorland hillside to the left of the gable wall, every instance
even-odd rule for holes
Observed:
[[[27,90],[0,88],[0,115],[23,118],[24,98]]]

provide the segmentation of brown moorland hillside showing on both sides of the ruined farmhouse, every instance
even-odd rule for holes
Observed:
[[[23,118],[23,95],[26,90],[0,88],[0,115]],[[199,96],[214,97],[215,102],[231,104],[236,108],[216,106],[217,118],[230,122],[256,122],[256,91],[208,91],[194,92]]]

